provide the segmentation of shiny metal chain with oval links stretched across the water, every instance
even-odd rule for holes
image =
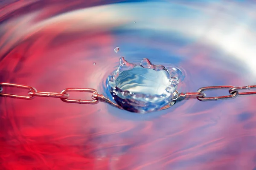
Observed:
[[[17,94],[3,93],[4,87],[23,88],[28,91],[28,95],[23,96],[23,95],[17,95]],[[242,87],[235,87],[231,85],[203,87],[198,89],[198,91],[195,93],[180,93],[177,97],[177,101],[181,101],[183,99],[193,99],[193,98],[194,99],[196,98],[200,101],[233,99],[236,96],[240,96],[240,95],[256,94],[256,91],[239,92],[240,90],[249,90],[253,88],[256,88],[256,85],[242,86]],[[204,91],[212,91],[212,90],[220,90],[220,89],[228,89],[228,92],[230,95],[207,97],[207,95],[204,93]],[[67,92],[92,93],[92,99],[91,100],[69,99],[70,95]],[[61,93],[56,93],[56,92],[37,91],[34,87],[27,86],[27,85],[20,85],[20,84],[14,84],[14,83],[0,83],[0,96],[17,98],[17,99],[34,99],[36,96],[53,97],[53,98],[60,98],[63,102],[79,103],[79,104],[97,104],[101,101],[101,102],[106,102],[110,105],[113,105],[117,108],[121,108],[119,105],[116,105],[115,103],[111,102],[108,98],[106,98],[102,94],[98,94],[98,92],[95,89],[91,89],[91,88],[66,88],[63,91],[61,91]]]

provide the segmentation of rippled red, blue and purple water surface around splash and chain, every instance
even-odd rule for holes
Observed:
[[[95,88],[111,96],[105,80],[124,56],[177,66],[185,74],[180,92],[256,84],[250,1],[6,0],[0,6],[0,82],[38,91]],[[253,170],[254,104],[255,96],[194,99],[141,115],[105,103],[0,98],[0,169]]]

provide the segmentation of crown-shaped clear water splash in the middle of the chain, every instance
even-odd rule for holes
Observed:
[[[181,71],[169,72],[143,58],[140,65],[120,57],[119,67],[108,77],[109,91],[116,103],[127,111],[148,113],[171,105],[177,98],[176,88]]]

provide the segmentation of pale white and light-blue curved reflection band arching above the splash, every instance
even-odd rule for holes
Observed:
[[[207,3],[201,6],[167,2],[121,3],[71,11],[34,23],[35,17],[40,14],[40,11],[37,11],[6,24],[10,26],[15,24],[16,20],[23,20],[23,24],[15,30],[12,38],[9,38],[11,44],[17,42],[17,38],[35,34],[39,30],[55,34],[60,30],[54,25],[64,27],[64,32],[98,32],[117,27],[150,28],[166,31],[166,34],[175,31],[177,34],[223,50],[230,54],[230,58],[227,58],[229,60],[239,59],[255,76],[255,8],[255,4],[241,6],[239,3],[229,1],[225,1],[225,5]],[[1,28],[4,26],[5,24],[2,24]],[[3,54],[3,50],[1,53]]]

